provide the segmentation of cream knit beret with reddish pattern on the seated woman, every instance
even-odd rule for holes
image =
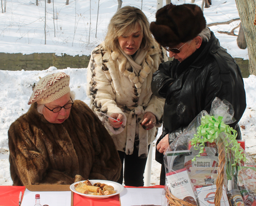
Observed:
[[[44,76],[35,86],[28,105],[34,102],[37,102],[37,104],[47,104],[69,93],[69,82],[70,76],[64,72]]]

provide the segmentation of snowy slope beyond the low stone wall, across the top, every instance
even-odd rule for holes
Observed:
[[[38,2],[35,6],[35,0],[7,0],[6,13],[0,13],[0,52],[90,55],[92,48],[104,40],[118,5],[117,0],[70,0],[69,5],[54,0],[53,14],[53,4],[46,4],[45,44],[45,1]],[[172,3],[189,4],[191,1],[172,0]],[[201,7],[202,0],[195,3]],[[155,20],[156,0],[124,0],[122,6],[126,5],[142,8],[150,22]],[[211,7],[204,8],[204,15],[207,24],[239,18],[235,0],[212,0]],[[237,37],[217,32],[230,32],[239,23],[240,20],[233,21],[210,29],[233,57],[248,59],[247,49],[237,46]],[[239,29],[234,31],[238,32]]]

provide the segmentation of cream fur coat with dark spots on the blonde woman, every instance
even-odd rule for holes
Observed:
[[[140,124],[146,112],[156,116],[157,127],[162,124],[164,99],[152,94],[151,81],[159,64],[166,60],[166,54],[155,42],[136,75],[127,58],[120,51],[107,51],[104,42],[92,51],[87,74],[90,107],[110,132],[117,150],[125,151],[127,155],[133,153],[136,141],[139,142],[136,145],[139,157],[147,157],[148,144],[156,138],[156,127],[146,130]],[[123,125],[116,130],[109,124],[108,117],[99,112],[122,114]]]

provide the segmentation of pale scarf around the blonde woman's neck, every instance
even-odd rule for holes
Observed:
[[[125,54],[125,52],[121,49],[120,45],[119,49],[121,53],[124,55],[124,57],[126,57],[129,63],[131,64],[136,76],[138,76],[141,69],[141,63],[146,57],[147,50],[139,48],[136,52],[136,55],[132,58],[131,55]]]

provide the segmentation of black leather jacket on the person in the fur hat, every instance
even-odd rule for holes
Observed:
[[[238,122],[246,108],[242,74],[214,33],[181,63],[175,59],[160,64],[151,88],[153,94],[165,98],[163,134],[159,140],[169,134],[172,142],[202,110],[210,112],[215,97],[226,99],[233,106],[237,121],[230,126],[241,139]]]

